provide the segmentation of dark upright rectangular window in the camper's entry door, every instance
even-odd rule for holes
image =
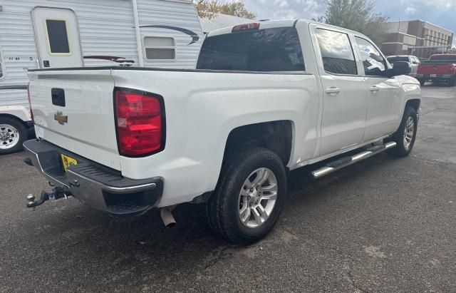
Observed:
[[[70,54],[66,21],[46,19],[48,31],[49,51],[51,54]]]

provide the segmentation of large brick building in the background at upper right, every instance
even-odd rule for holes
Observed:
[[[415,55],[429,58],[432,53],[451,49],[453,32],[427,21],[395,21],[388,24],[388,34],[382,43],[385,55]]]

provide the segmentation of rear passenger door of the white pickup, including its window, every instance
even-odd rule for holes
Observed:
[[[320,155],[355,146],[363,140],[368,90],[350,36],[343,31],[311,26],[323,86]]]

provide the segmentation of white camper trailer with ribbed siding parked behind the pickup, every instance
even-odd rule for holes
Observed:
[[[0,154],[32,124],[28,69],[195,68],[202,38],[191,0],[0,0]]]

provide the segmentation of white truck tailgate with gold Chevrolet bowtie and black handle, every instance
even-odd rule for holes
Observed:
[[[110,69],[28,75],[37,137],[120,170]]]

